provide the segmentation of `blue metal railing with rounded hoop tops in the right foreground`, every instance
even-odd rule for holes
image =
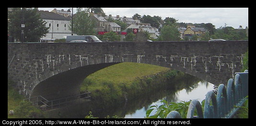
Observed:
[[[192,100],[189,104],[186,118],[232,118],[247,99],[248,95],[248,70],[243,73],[235,73],[235,78],[228,80],[227,88],[220,84],[217,96],[209,91],[205,97],[204,112],[198,100]],[[217,98],[216,98],[217,97]],[[197,116],[194,111],[197,110]],[[166,118],[181,118],[177,111],[171,111]]]

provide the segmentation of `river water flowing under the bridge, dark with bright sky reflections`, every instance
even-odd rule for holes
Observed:
[[[189,75],[191,76],[191,75]],[[54,115],[54,118],[84,118],[92,111],[94,117],[105,118],[117,115],[120,118],[144,118],[147,109],[151,105],[161,105],[162,99],[168,102],[189,101],[198,99],[199,102],[205,99],[208,91],[213,90],[214,85],[198,79],[197,77],[189,77],[190,79],[182,79],[175,83],[170,82],[165,87],[162,87],[153,92],[145,93],[135,99],[128,99],[126,103],[116,105],[107,109],[93,108],[89,103],[80,104],[73,107],[67,107],[60,110],[61,115]],[[151,112],[153,115],[155,111]]]

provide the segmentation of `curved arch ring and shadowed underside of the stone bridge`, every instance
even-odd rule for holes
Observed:
[[[62,73],[58,73],[36,84],[35,88],[32,90],[30,94],[30,97],[41,95],[47,100],[55,100],[72,95],[77,95],[80,93],[81,83],[88,75],[117,63],[121,62],[84,65]],[[185,69],[178,65],[170,65],[170,63],[155,61],[141,63],[168,67],[174,70],[178,70],[196,76],[210,83],[214,83],[214,81],[209,76],[206,76],[202,73],[193,72],[189,69]]]

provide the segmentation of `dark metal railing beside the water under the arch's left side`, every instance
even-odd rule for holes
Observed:
[[[33,105],[38,106],[38,107],[40,107],[42,105],[46,105],[46,109],[50,108],[50,110],[52,110],[55,108],[60,108],[62,106],[67,106],[69,103],[74,103],[75,101],[80,103],[81,99],[90,98],[91,97],[89,95],[90,93],[91,92],[84,92],[81,94],[77,94],[77,95],[73,95],[73,96],[69,96],[69,97],[65,97],[65,98],[59,98],[59,99],[55,99],[55,100],[47,100],[46,98],[44,98],[43,96],[40,95],[40,96],[35,96],[35,97],[24,99],[24,101],[29,101]]]

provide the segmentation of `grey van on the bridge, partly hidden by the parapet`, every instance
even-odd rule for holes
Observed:
[[[66,42],[73,40],[84,40],[86,42],[102,42],[95,35],[71,35],[67,36]]]

